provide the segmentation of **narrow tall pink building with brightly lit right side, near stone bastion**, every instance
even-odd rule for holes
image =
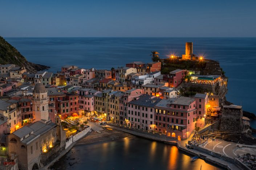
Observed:
[[[207,108],[208,108],[208,95],[196,93],[194,98],[196,100],[196,109],[197,109],[196,126],[204,127],[205,126],[204,119],[207,114]]]

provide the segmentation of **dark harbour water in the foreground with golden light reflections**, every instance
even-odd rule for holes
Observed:
[[[74,152],[74,153],[73,153]],[[72,160],[75,158],[75,160]],[[69,163],[74,163],[70,166]],[[176,146],[127,137],[117,141],[75,145],[51,169],[84,170],[219,170],[190,156]]]

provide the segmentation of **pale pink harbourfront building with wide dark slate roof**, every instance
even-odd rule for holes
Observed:
[[[128,103],[127,126],[146,131],[154,130],[155,105],[161,99],[149,94],[142,94]]]

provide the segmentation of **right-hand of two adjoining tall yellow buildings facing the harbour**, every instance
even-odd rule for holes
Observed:
[[[107,114],[107,120],[109,120],[110,122],[114,122],[119,124],[119,99],[122,98],[122,96],[124,95],[124,92],[121,91],[113,91],[111,93],[109,93],[109,99],[108,99],[108,114]]]

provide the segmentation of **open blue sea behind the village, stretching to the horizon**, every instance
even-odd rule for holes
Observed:
[[[50,66],[62,65],[111,69],[131,61],[149,62],[150,51],[161,58],[173,53],[182,56],[185,43],[193,42],[194,54],[220,62],[228,77],[227,100],[256,114],[256,38],[6,38],[29,61]],[[256,123],[252,123],[256,128]]]

